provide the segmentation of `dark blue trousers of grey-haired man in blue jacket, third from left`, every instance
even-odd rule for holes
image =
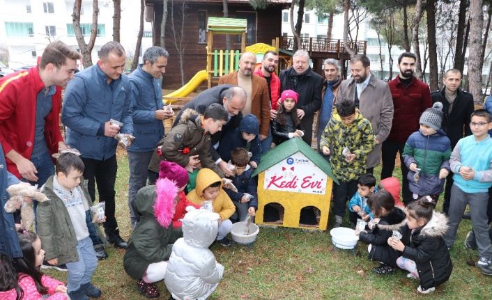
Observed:
[[[140,214],[135,207],[135,195],[147,183],[147,169],[151,162],[153,151],[149,152],[127,152],[128,168],[130,177],[128,178],[128,208],[130,209],[130,221],[132,228],[137,226],[140,221]]]

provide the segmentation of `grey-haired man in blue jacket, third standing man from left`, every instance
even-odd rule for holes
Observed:
[[[133,132],[135,141],[128,148],[128,207],[132,228],[137,226],[140,216],[134,207],[137,191],[147,182],[147,168],[152,154],[164,136],[162,120],[171,118],[173,111],[163,109],[162,75],[166,72],[169,53],[161,47],[146,49],[143,60],[137,70],[128,76],[133,93]]]

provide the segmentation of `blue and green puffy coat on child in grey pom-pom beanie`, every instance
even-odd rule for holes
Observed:
[[[430,136],[424,136],[420,129],[411,134],[403,150],[403,161],[407,168],[415,163],[421,171],[417,182],[413,179],[415,172],[408,171],[410,191],[420,196],[440,194],[445,179],[439,179],[439,172],[441,168],[450,171],[449,157],[451,157],[451,145],[442,129]]]

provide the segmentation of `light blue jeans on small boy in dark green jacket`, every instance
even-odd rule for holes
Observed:
[[[95,267],[98,267],[98,258],[95,257],[94,246],[89,237],[77,244],[78,262],[67,262],[67,292],[79,290],[80,285],[91,281]]]

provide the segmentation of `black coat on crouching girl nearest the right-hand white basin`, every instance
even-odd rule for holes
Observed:
[[[393,235],[393,230],[400,230],[405,224],[405,212],[395,207],[389,214],[380,219],[378,225],[371,232],[360,232],[360,241],[372,245],[369,259],[397,267],[397,258],[401,253],[388,245],[387,239]]]

